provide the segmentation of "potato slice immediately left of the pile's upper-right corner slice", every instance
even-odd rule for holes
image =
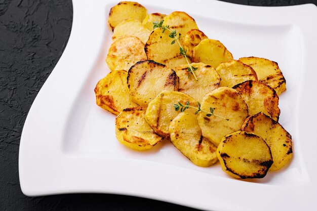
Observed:
[[[258,80],[252,67],[239,60],[230,60],[218,65],[216,71],[221,77],[220,87],[232,88],[246,80]]]

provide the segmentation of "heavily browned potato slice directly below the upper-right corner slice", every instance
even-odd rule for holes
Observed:
[[[247,80],[233,87],[249,107],[249,115],[262,111],[275,121],[279,120],[279,96],[265,83],[255,80]]]

